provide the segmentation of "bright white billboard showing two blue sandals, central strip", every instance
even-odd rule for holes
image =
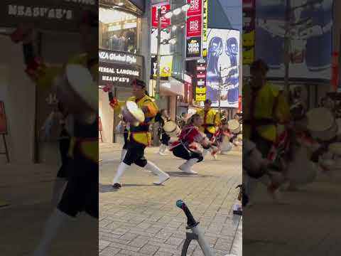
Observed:
[[[239,36],[237,30],[209,28],[207,33],[207,99],[212,107],[238,108]],[[220,76],[221,68],[221,76]]]

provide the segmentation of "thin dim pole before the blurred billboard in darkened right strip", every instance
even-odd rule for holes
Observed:
[[[286,0],[286,34],[284,36],[284,92],[286,97],[289,95],[289,63],[290,63],[290,55],[289,55],[289,47],[290,47],[290,0]]]

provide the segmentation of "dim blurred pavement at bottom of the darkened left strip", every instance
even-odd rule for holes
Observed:
[[[32,256],[50,215],[53,181],[59,166],[45,164],[2,165],[0,197],[0,255]],[[98,220],[88,215],[60,230],[49,256],[98,255]]]

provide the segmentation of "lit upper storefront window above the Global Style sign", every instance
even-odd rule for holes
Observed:
[[[99,8],[99,47],[139,54],[141,18],[116,9]]]

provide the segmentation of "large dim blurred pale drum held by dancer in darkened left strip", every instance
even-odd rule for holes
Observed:
[[[87,68],[70,64],[66,67],[66,77],[72,90],[93,110],[98,109],[98,94],[94,93],[97,84]]]

